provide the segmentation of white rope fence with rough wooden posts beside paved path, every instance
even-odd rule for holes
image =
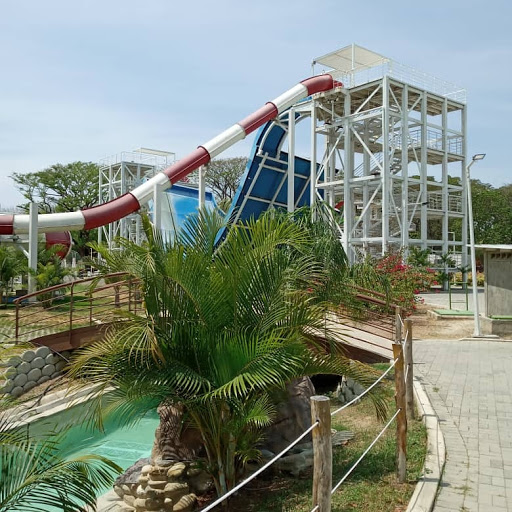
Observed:
[[[406,462],[407,462],[407,420],[414,418],[414,401],[413,401],[413,357],[412,357],[412,321],[403,320],[401,313],[397,314],[397,324],[400,324],[400,333],[404,333],[400,343],[393,344],[393,360],[389,368],[361,395],[346,403],[339,409],[331,412],[330,400],[325,396],[311,397],[311,419],[312,425],[305,430],[297,439],[290,443],[284,450],[278,453],[273,459],[269,460],[260,469],[251,476],[239,483],[229,492],[215,500],[210,505],[201,509],[201,512],[209,512],[215,507],[223,503],[233,494],[239,492],[245,485],[261,475],[272,464],[278,461],[296,444],[300,443],[308,434],[313,436],[313,508],[311,512],[330,512],[331,497],[347,480],[350,474],[361,463],[368,452],[382,437],[384,432],[396,420],[396,467],[398,482],[403,483],[406,479]],[[332,434],[331,434],[331,418],[350,407],[361,397],[369,393],[377,386],[392,370],[395,369],[395,403],[396,411],[382,428],[379,434],[368,445],[366,450],[361,454],[357,461],[348,469],[345,475],[332,485]]]

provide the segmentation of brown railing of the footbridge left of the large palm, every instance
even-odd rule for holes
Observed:
[[[15,343],[47,339],[67,333],[88,332],[119,319],[123,308],[137,314],[142,310],[138,283],[125,273],[90,277],[39,290],[14,300]],[[48,341],[48,340],[47,340]],[[45,343],[47,344],[47,343]]]

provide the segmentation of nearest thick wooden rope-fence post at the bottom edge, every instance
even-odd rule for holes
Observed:
[[[331,512],[331,402],[326,396],[311,397],[311,420],[319,422],[313,430],[313,508]]]

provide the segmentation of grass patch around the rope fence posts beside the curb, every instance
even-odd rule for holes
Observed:
[[[389,390],[390,413],[394,410],[393,384]],[[390,414],[391,415],[391,414]],[[383,425],[373,405],[363,399],[333,421],[337,430],[351,430],[355,438],[334,448],[333,486],[368,447]],[[333,512],[403,512],[421,474],[426,452],[426,430],[420,421],[409,423],[407,482],[397,483],[395,474],[395,423],[392,423],[354,472],[332,497]],[[230,501],[230,512],[308,512],[311,510],[312,471],[291,478],[272,475],[271,470],[248,484]],[[270,473],[270,474],[269,474]]]

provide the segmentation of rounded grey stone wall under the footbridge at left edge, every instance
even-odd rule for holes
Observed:
[[[48,347],[26,350],[0,368],[0,393],[18,398],[39,384],[62,374],[70,353],[53,353]]]

